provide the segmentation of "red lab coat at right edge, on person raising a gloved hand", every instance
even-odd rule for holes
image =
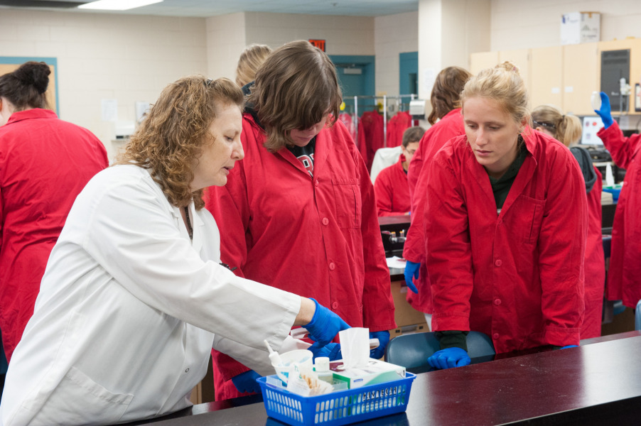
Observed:
[[[641,135],[624,137],[615,121],[608,129],[600,129],[596,136],[610,151],[616,165],[625,169],[612,226],[606,297],[623,300],[623,305],[634,308],[641,299],[641,191],[637,188],[641,182],[637,161],[641,160]]]

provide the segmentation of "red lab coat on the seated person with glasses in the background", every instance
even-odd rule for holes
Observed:
[[[379,172],[374,182],[378,215],[398,216],[409,212],[409,187],[407,173],[403,170],[405,155],[401,154],[397,163]]]

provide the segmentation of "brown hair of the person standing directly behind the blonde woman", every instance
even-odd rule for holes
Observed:
[[[465,82],[470,80],[472,74],[461,67],[446,67],[436,75],[432,87],[430,102],[432,111],[427,117],[429,124],[436,123],[453,109],[460,108],[460,92],[463,92]]]

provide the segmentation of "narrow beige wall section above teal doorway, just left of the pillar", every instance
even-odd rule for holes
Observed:
[[[419,50],[419,13],[374,18],[376,93],[399,94],[399,53]]]

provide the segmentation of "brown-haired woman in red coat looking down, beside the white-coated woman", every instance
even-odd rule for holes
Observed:
[[[330,307],[369,327],[380,358],[395,327],[374,189],[345,126],[333,63],[304,40],[274,50],[244,108],[244,160],[206,207],[237,275]],[[329,354],[338,356],[338,354]],[[255,391],[257,373],[212,351],[216,399]]]

